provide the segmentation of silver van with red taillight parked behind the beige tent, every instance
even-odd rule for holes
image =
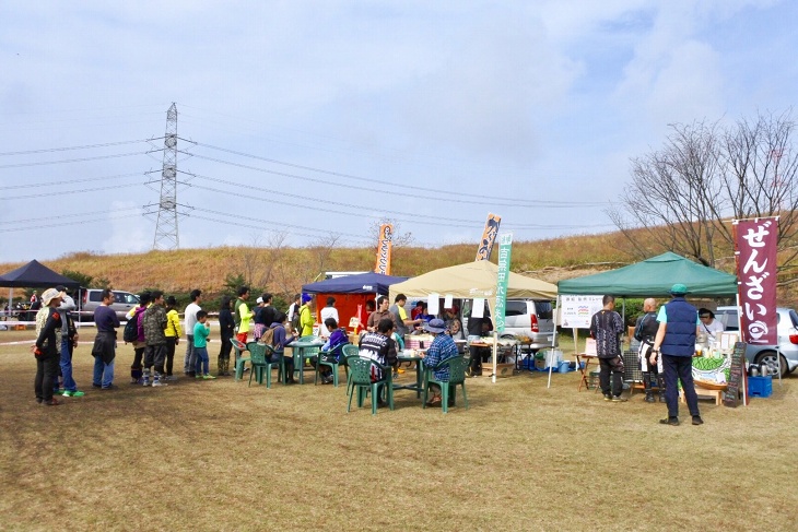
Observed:
[[[468,305],[463,308],[462,327],[468,330]],[[495,326],[495,321],[494,321]],[[531,352],[559,345],[554,330],[554,305],[548,299],[507,299],[504,307],[502,338],[528,336]]]

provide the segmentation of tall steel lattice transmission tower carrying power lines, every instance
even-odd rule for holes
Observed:
[[[177,249],[177,106],[166,111],[166,134],[164,135],[164,164],[161,172],[161,201],[153,249]]]

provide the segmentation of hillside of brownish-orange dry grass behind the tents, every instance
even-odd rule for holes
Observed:
[[[656,255],[664,250],[655,250]],[[477,246],[460,244],[441,248],[394,249],[395,275],[418,275],[474,259]],[[512,270],[556,283],[563,279],[620,268],[639,260],[620,233],[571,236],[513,244]],[[243,275],[253,287],[268,288],[286,299],[324,271],[366,271],[374,268],[375,250],[366,248],[249,248],[221,247],[150,251],[139,255],[78,252],[55,260],[39,259],[62,272],[77,271],[105,279],[115,288],[137,292],[159,287],[166,293],[188,293],[200,287],[209,294],[224,291],[227,276]],[[495,261],[495,250],[494,250]],[[731,271],[731,259],[721,261]],[[21,263],[0,264],[9,271]],[[795,306],[795,288],[779,292],[779,305]]]

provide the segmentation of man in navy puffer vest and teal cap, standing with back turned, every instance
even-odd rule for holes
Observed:
[[[682,381],[693,425],[704,423],[699,412],[699,397],[693,383],[693,353],[695,352],[695,334],[700,324],[699,311],[686,302],[684,298],[686,294],[685,285],[674,284],[670,288],[670,303],[662,305],[657,315],[659,329],[654,339],[652,352],[660,354],[662,357],[665,402],[668,404],[668,417],[659,421],[662,425],[679,425],[677,379]]]

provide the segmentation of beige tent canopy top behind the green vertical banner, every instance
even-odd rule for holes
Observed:
[[[409,279],[403,283],[390,285],[390,300],[397,294],[404,294],[408,298],[426,297],[430,294],[441,294],[441,297],[451,294],[459,299],[484,297],[489,299],[491,311],[496,308],[496,274],[498,267],[488,260],[466,262]],[[555,299],[556,286],[525,277],[518,273],[509,273],[507,282],[507,298],[537,298]]]

